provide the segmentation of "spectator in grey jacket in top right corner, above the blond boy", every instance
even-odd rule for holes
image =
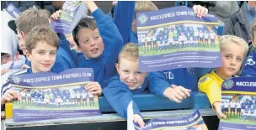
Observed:
[[[234,34],[237,37],[243,38],[249,45],[248,52],[256,52],[256,48],[251,43],[251,24],[255,14],[256,2],[248,1],[243,3],[242,7],[233,13],[230,18],[227,18],[223,34]]]

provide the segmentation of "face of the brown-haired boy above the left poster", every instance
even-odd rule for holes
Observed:
[[[31,54],[27,52],[33,73],[50,71],[56,61],[56,51],[55,46],[44,41],[35,44],[35,49],[31,50]]]

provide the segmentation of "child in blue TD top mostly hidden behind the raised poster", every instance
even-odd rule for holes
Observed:
[[[128,42],[138,43],[136,30],[136,13],[155,11],[157,6],[149,1],[118,2],[115,6],[114,23],[123,38],[123,44]],[[197,17],[202,18],[208,13],[207,8],[195,5],[193,10]],[[210,72],[211,69],[202,68],[181,68],[164,70],[163,75],[169,84],[184,86],[191,91],[198,91],[197,81],[202,75]],[[183,75],[181,75],[183,74]]]

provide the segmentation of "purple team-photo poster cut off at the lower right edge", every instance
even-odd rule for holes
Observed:
[[[256,129],[256,78],[236,77],[222,84],[219,130]]]

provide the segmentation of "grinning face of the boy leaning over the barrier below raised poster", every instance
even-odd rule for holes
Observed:
[[[115,67],[120,75],[120,81],[124,82],[131,90],[141,86],[147,76],[147,73],[140,72],[139,60],[131,61],[122,58]]]

